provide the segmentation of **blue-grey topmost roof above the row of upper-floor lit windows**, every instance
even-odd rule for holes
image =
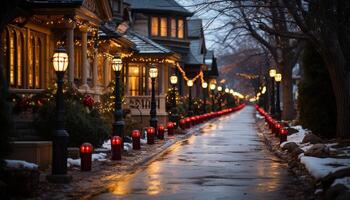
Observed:
[[[131,9],[134,11],[146,11],[146,12],[161,12],[180,14],[183,16],[192,16],[193,13],[189,12],[183,6],[178,4],[175,0],[124,0],[131,5]]]

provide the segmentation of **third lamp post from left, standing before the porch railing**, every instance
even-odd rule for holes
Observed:
[[[156,103],[156,92],[155,92],[155,82],[158,77],[158,69],[154,65],[149,69],[149,77],[152,81],[152,97],[151,97],[151,119],[149,120],[150,126],[157,130],[157,103]]]

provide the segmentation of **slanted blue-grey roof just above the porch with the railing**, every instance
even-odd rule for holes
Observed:
[[[153,40],[138,34],[133,31],[128,31],[123,35],[124,38],[130,40],[136,45],[136,49],[139,54],[170,54],[171,50],[163,47],[162,45],[154,42]]]

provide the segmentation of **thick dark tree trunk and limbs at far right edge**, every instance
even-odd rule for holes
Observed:
[[[295,23],[326,63],[337,104],[337,137],[349,139],[350,1],[283,0],[283,2]]]

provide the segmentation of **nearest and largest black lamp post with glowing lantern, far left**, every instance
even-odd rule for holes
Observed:
[[[57,75],[56,128],[52,140],[52,174],[47,176],[47,179],[51,182],[66,183],[72,177],[67,175],[69,135],[64,128],[63,77],[68,67],[68,54],[63,47],[55,51],[52,64]]]

